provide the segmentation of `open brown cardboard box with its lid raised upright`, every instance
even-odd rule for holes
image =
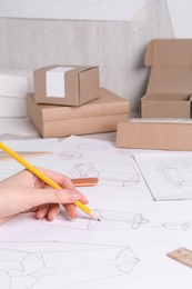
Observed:
[[[141,118],[191,118],[192,40],[152,40],[144,64],[151,69]]]

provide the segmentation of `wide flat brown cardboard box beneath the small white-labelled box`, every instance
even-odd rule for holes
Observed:
[[[127,120],[129,101],[101,88],[100,98],[81,107],[38,104],[27,96],[29,118],[43,138],[115,131]]]

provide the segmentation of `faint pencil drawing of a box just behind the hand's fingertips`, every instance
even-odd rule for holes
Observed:
[[[132,165],[77,163],[69,171],[72,178],[99,178],[100,186],[129,187],[140,182],[140,175]]]

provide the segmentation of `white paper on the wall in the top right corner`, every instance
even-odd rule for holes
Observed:
[[[192,38],[191,0],[166,0],[175,38]]]

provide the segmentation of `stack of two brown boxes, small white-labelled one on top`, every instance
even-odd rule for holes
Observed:
[[[99,67],[40,68],[33,80],[28,114],[43,138],[115,131],[129,118],[129,101],[100,88]]]

